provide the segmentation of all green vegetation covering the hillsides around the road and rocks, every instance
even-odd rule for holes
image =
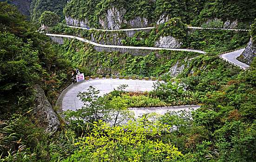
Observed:
[[[32,3],[33,19],[47,25],[48,32],[110,37],[109,31],[72,29],[60,24],[65,16],[57,6],[64,6],[66,1]],[[172,19],[150,32],[120,37],[120,41],[153,46],[159,37],[172,36],[182,39],[184,48],[207,51],[204,55],[159,50],[132,56],[96,51],[91,44],[76,39],[56,44],[17,8],[0,2],[0,161],[255,162],[256,61],[243,70],[219,57],[220,50],[240,48],[250,37],[255,39],[255,4],[253,0],[72,0],[66,5],[66,15],[86,17],[95,27],[97,17],[111,5],[124,7],[127,20],[143,15],[155,23],[166,12]],[[56,10],[48,9],[54,7]],[[200,29],[188,34],[184,23],[201,25],[211,18],[238,19],[241,27],[252,24],[251,30]],[[118,34],[125,35],[121,31]],[[168,72],[176,64],[183,65],[184,70],[172,80]],[[126,92],[122,85],[98,95],[99,91],[89,87],[78,94],[84,103],[81,109],[63,112],[55,105],[60,93],[72,84],[76,68],[85,76],[161,76],[164,82],[144,93]],[[59,127],[53,134],[46,131],[48,117],[42,119],[43,113],[37,112],[35,86],[42,88],[48,106],[57,114]],[[144,114],[137,119],[128,109],[191,104],[200,108],[169,111],[162,116]]]

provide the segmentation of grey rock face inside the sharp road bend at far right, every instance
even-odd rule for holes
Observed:
[[[256,42],[253,43],[251,38],[242,55],[238,57],[238,60],[246,64],[253,62],[253,59],[256,57]]]

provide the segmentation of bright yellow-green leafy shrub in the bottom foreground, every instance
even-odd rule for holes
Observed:
[[[122,161],[122,162],[170,162],[182,154],[169,143],[154,141],[169,125],[149,122],[146,117],[129,121],[127,125],[110,126],[102,121],[95,122],[87,137],[79,138],[79,150],[64,162]]]

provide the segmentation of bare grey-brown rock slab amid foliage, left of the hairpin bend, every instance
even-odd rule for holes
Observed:
[[[39,118],[42,126],[45,127],[49,135],[53,135],[59,128],[60,122],[57,114],[53,111],[53,107],[47,100],[44,90],[38,85],[34,85],[35,103],[34,114]]]

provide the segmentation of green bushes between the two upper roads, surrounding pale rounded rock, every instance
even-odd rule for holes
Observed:
[[[175,21],[176,19],[171,19],[171,21],[159,25],[159,27],[156,27],[150,33],[140,31],[133,37],[125,37],[125,39],[122,40],[122,43],[131,46],[154,46],[155,41],[157,41],[160,36],[170,35],[182,40],[183,48],[193,48],[210,52],[212,50],[228,51],[244,47],[250,39],[249,32],[247,31],[207,29],[190,31],[184,28],[184,25],[179,25],[177,27],[175,25],[170,25]],[[179,20],[177,20],[177,22],[179,22]],[[179,23],[182,24],[182,22]],[[188,31],[190,32],[188,33]]]

